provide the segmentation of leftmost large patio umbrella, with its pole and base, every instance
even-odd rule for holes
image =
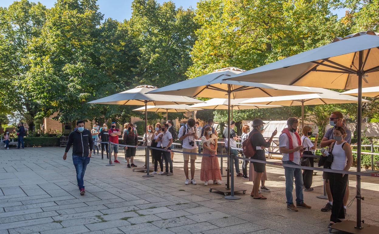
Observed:
[[[150,85],[140,85],[131,90],[122,91],[108,97],[103,97],[91,102],[89,104],[112,104],[112,105],[144,105],[145,106],[145,132],[147,126],[147,104],[153,105],[166,105],[166,104],[193,104],[203,102],[191,97],[175,96],[175,95],[160,95],[160,94],[146,94],[149,91],[156,90],[157,87]],[[145,139],[147,145],[147,139]],[[146,149],[146,168],[147,174],[144,177],[152,177],[149,174],[149,151]],[[111,160],[111,159],[110,159]]]

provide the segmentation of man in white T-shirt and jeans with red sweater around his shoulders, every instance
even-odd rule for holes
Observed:
[[[299,120],[295,117],[287,119],[287,128],[283,129],[279,137],[279,151],[283,154],[282,162],[285,171],[285,196],[287,209],[298,211],[298,208],[310,209],[303,199],[303,177],[300,168],[287,167],[285,164],[300,165],[301,153],[304,151],[301,145],[299,133]],[[293,178],[296,187],[296,206],[293,204],[292,190]]]

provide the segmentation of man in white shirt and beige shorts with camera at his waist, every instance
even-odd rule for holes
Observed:
[[[196,184],[196,180],[194,179],[195,176],[195,160],[197,158],[197,155],[194,153],[197,153],[197,146],[195,143],[195,140],[197,140],[197,134],[196,134],[196,127],[195,127],[195,120],[194,119],[188,119],[187,124],[180,127],[179,129],[179,140],[182,141],[182,147],[183,147],[183,159],[184,159],[184,174],[186,176],[186,182],[185,185],[188,185],[190,182],[191,184]],[[191,154],[192,153],[192,154]],[[188,177],[188,161],[191,159],[191,181]]]

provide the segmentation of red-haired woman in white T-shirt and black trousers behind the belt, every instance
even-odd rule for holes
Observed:
[[[302,133],[303,135],[301,137],[301,144],[304,147],[304,150],[310,151],[312,152],[312,154],[314,154],[316,146],[317,146],[318,134],[316,134],[315,143],[313,144],[312,141],[310,141],[309,139],[309,137],[312,135],[312,128],[306,125],[302,129]],[[304,160],[305,156],[303,156],[302,159]],[[309,159],[309,166],[313,167],[313,158],[308,157],[308,159]],[[304,191],[313,191],[313,188],[311,188],[312,180],[313,180],[313,170],[303,170]]]

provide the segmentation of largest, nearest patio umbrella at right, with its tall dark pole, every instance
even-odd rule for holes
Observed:
[[[357,171],[361,162],[362,88],[379,86],[379,33],[362,31],[316,49],[261,66],[231,80],[320,88],[358,88]],[[357,176],[357,228],[362,228],[360,176]],[[338,227],[349,226],[340,223]],[[336,227],[337,227],[336,226]]]

